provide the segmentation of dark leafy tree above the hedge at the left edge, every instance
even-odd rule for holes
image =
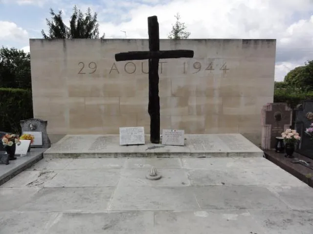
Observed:
[[[30,54],[16,48],[0,49],[0,87],[31,89]]]

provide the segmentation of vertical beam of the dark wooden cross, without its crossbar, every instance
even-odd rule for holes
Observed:
[[[157,17],[148,17],[149,50],[160,50],[160,39]],[[158,144],[160,142],[160,98],[158,96],[158,61],[149,59],[149,104],[150,115],[150,141]]]

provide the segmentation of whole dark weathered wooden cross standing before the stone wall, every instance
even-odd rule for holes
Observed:
[[[158,96],[159,59],[193,58],[193,50],[160,51],[159,29],[156,16],[148,17],[149,51],[130,51],[115,54],[116,61],[149,59],[150,141],[160,142],[160,98]]]

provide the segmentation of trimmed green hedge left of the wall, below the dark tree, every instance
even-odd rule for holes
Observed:
[[[0,88],[0,131],[21,134],[20,120],[32,117],[30,90]]]

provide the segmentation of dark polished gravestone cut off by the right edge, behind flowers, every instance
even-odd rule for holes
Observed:
[[[313,159],[313,141],[305,133],[313,123],[313,100],[305,100],[295,110],[295,130],[299,133],[301,140],[296,152]]]

